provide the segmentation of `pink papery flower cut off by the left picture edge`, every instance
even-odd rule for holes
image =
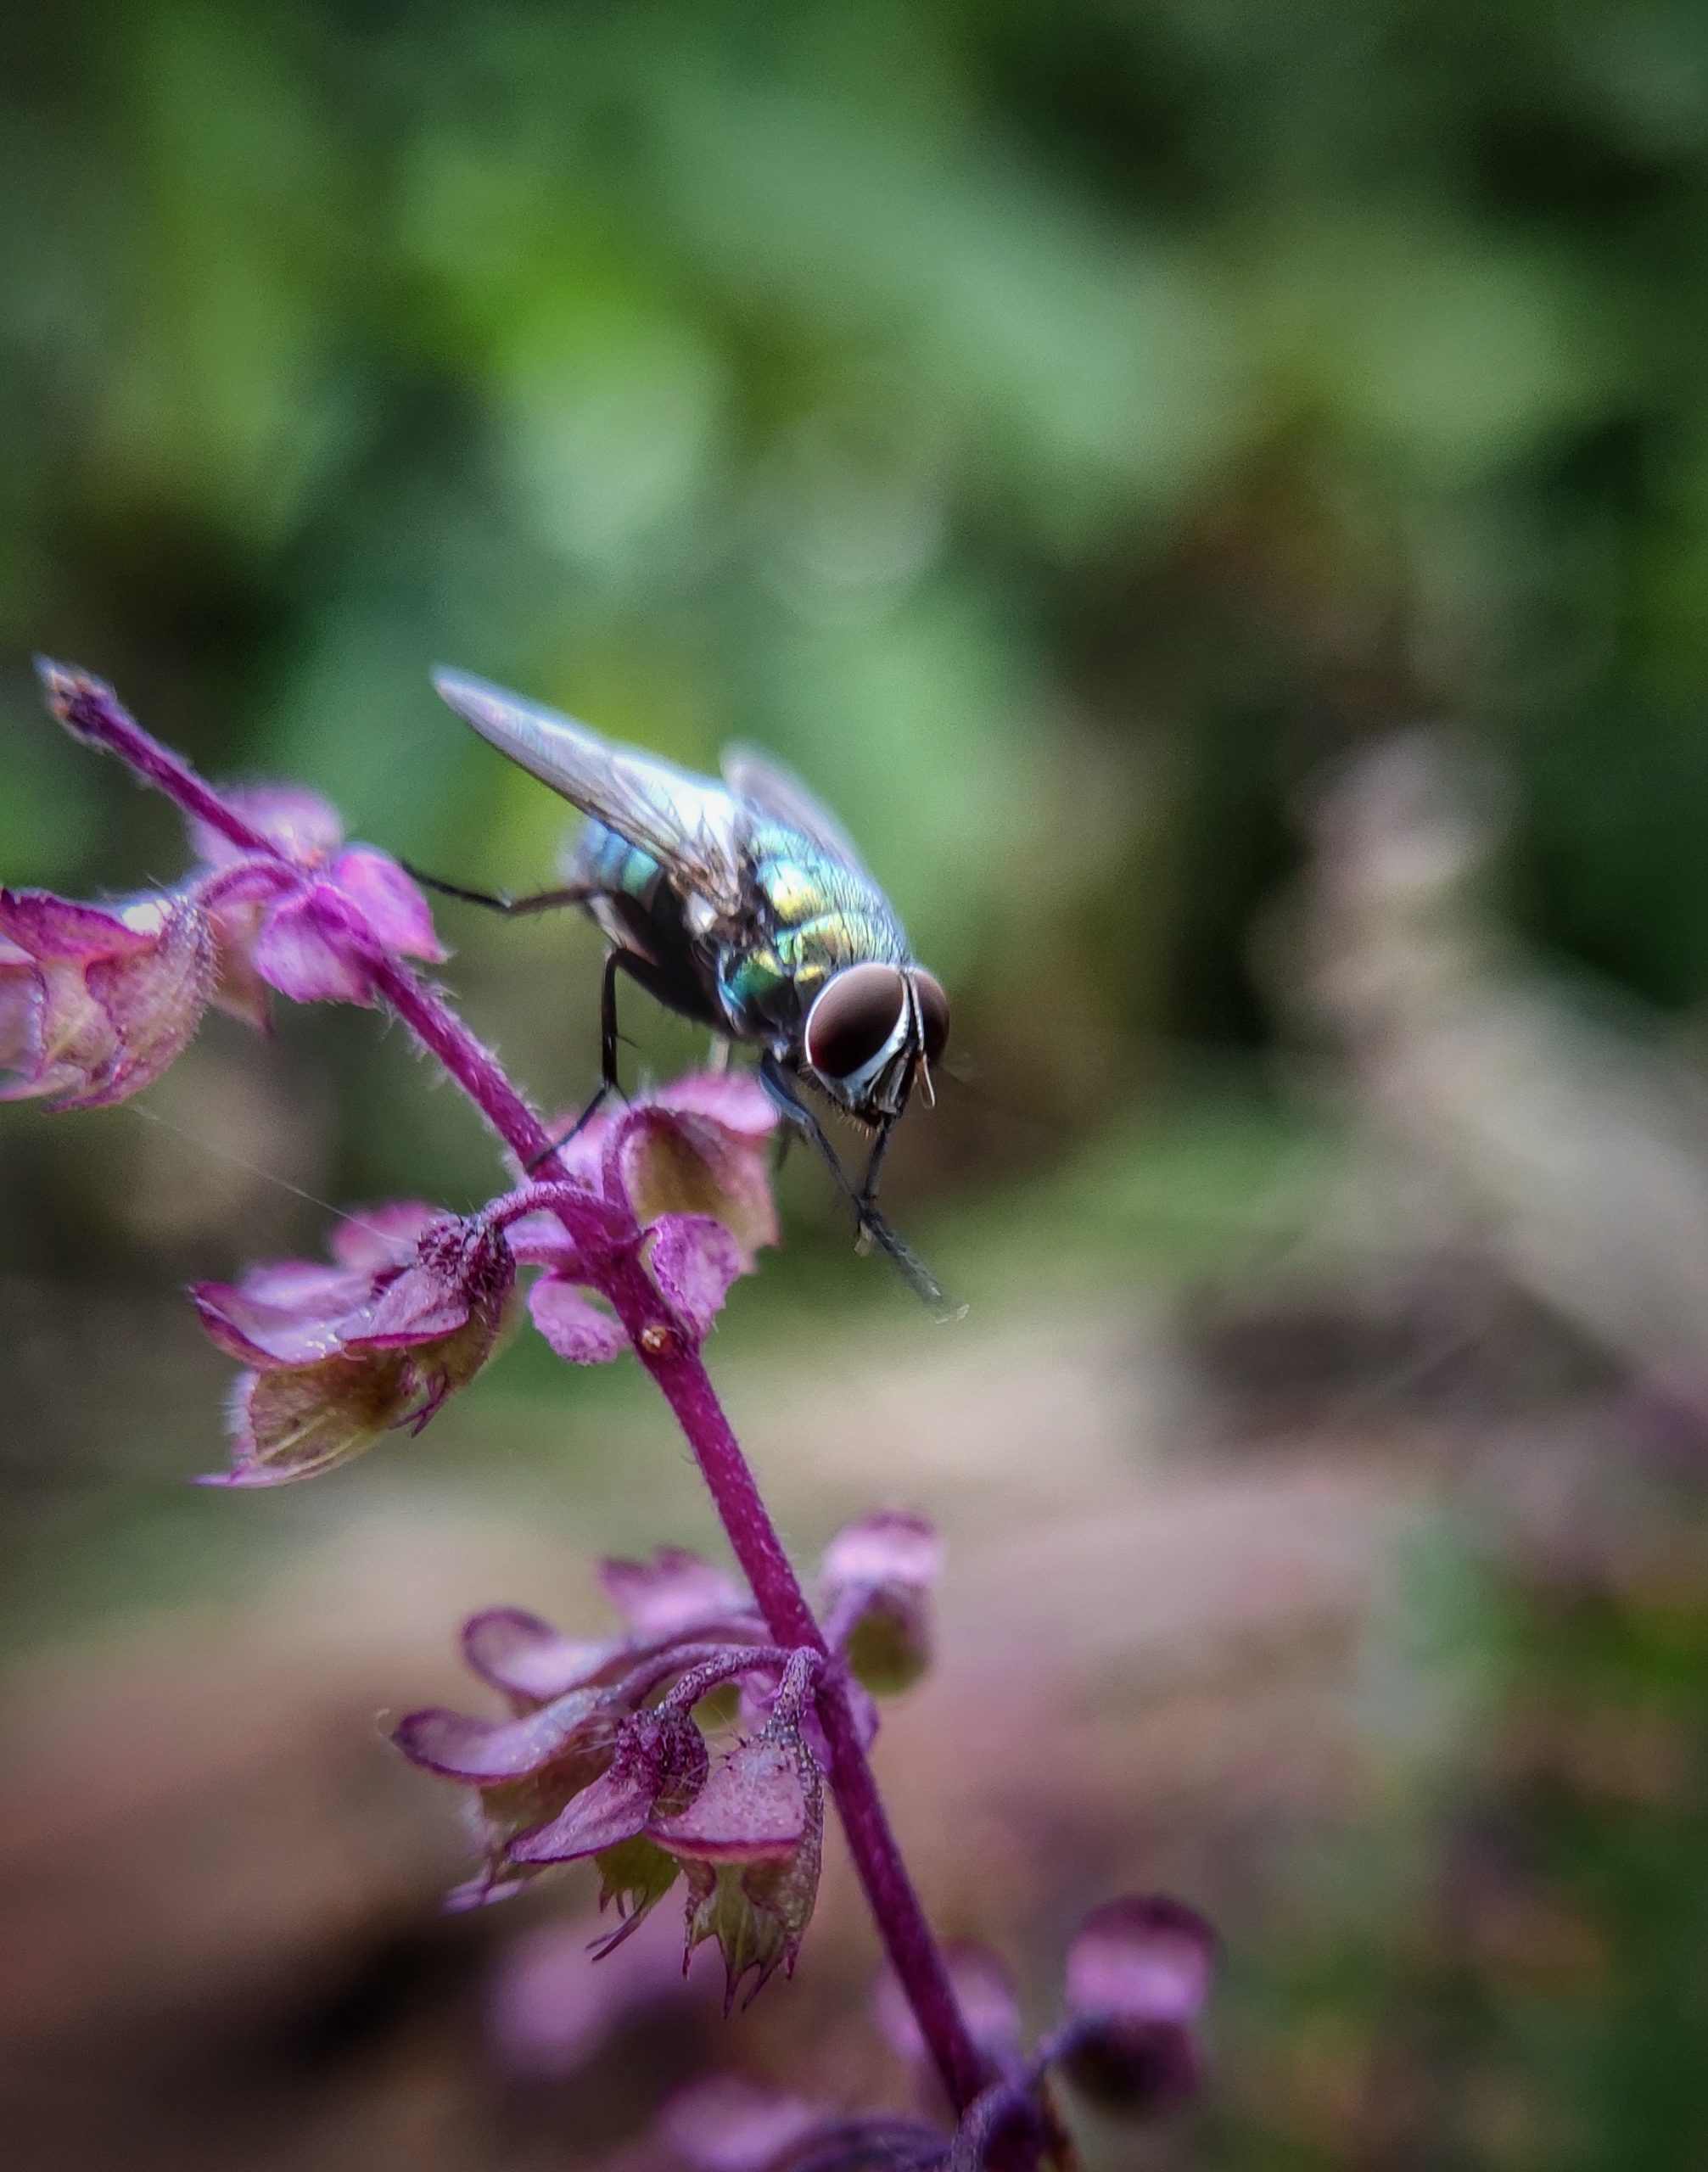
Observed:
[[[187,1047],[213,995],[215,943],[191,895],[78,906],[0,891],[0,1099],[106,1108]]]

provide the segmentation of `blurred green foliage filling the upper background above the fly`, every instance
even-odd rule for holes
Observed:
[[[30,647],[463,877],[452,658],[869,841],[1056,1121],[1265,1032],[1313,762],[1499,732],[1534,919],[1708,975],[1691,4],[11,11],[0,864],[139,817]],[[159,851],[159,830],[148,830]],[[474,940],[482,940],[476,936]]]

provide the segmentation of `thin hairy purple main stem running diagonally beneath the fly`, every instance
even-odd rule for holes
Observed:
[[[78,738],[115,754],[135,775],[165,793],[198,821],[209,823],[243,851],[289,862],[269,836],[248,823],[180,756],[172,754],[120,706],[100,680],[61,665],[39,662],[48,704]],[[374,988],[439,1058],[463,1093],[485,1114],[511,1153],[530,1166],[550,1145],[532,1108],[504,1075],[498,1058],[463,1025],[454,1010],[424,980],[391,958],[369,962]],[[572,1238],[582,1238],[578,1216],[565,1205],[561,1218]],[[800,1579],[782,1551],[748,1460],[724,1416],[700,1351],[682,1334],[639,1255],[639,1245],[617,1245],[606,1253],[604,1292],[648,1373],[665,1394],[687,1434],[700,1473],[711,1488],[734,1557],[752,1586],[758,1609],[776,1642],[789,1651],[811,1649],[828,1657]],[[817,1688],[819,1720],[830,1744],[830,1788],[847,1833],[847,1848],[867,1903],[889,1953],[919,2033],[930,2046],[943,2087],[956,2113],[987,2089],[991,2074],[956,2005],[943,1955],[926,1911],[913,1890],[902,1851],[889,1827],[878,1783],[871,1777],[847,1696],[832,1675]]]

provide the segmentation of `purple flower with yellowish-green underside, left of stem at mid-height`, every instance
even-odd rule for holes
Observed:
[[[233,1390],[233,1468],[215,1486],[285,1486],[419,1431],[498,1347],[515,1288],[504,1234],[424,1205],[380,1208],[332,1238],[335,1266],[285,1260],[191,1290],[248,1371]]]

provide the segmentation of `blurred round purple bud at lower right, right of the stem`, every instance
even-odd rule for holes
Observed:
[[[1210,1924],[1165,1894],[1126,1894],[1067,1948],[1063,2072],[1110,2111],[1165,2111],[1197,2089],[1193,2022],[1215,1977]]]

